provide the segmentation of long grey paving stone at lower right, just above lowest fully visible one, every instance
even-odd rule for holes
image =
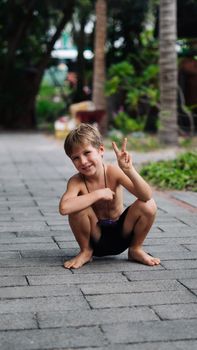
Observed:
[[[196,297],[189,291],[86,295],[86,299],[96,309],[196,302]]]

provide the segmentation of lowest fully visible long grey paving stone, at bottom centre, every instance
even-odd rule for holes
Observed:
[[[151,321],[159,319],[148,307],[77,310],[68,312],[38,313],[40,328],[81,327],[122,322]]]

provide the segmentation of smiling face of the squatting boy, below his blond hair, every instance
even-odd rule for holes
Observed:
[[[98,166],[102,164],[103,153],[103,145],[95,148],[90,143],[87,143],[75,145],[70,158],[81,174],[91,176],[95,174]]]

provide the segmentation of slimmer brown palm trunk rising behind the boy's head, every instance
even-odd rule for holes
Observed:
[[[107,1],[96,1],[96,27],[94,41],[94,75],[93,75],[93,102],[96,109],[106,110],[106,98],[104,94],[105,83],[105,42],[107,33]],[[107,130],[107,115],[102,119],[101,131]]]

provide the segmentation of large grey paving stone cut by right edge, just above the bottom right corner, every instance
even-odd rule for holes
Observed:
[[[196,339],[197,320],[150,321],[102,326],[111,343]]]

